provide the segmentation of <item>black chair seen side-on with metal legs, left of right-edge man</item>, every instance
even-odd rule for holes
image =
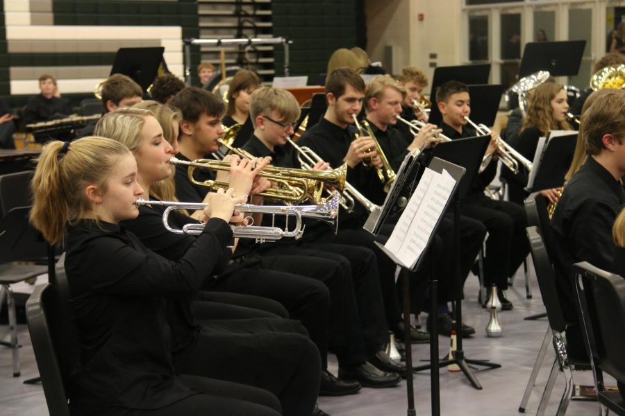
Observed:
[[[538,280],[538,286],[540,287],[540,294],[542,295],[542,302],[547,309],[547,319],[549,320],[549,331],[551,337],[545,336],[543,340],[543,346],[549,343],[549,338],[552,340],[553,350],[556,352],[556,359],[551,366],[551,372],[547,385],[545,385],[538,405],[536,415],[544,415],[544,411],[547,409],[549,403],[549,397],[553,390],[553,385],[556,383],[556,377],[558,371],[562,372],[566,378],[565,391],[562,393],[562,399],[560,399],[560,405],[556,415],[564,415],[569,401],[571,399],[571,392],[573,390],[573,370],[590,370],[588,362],[578,361],[567,355],[566,343],[562,337],[562,333],[567,327],[564,315],[562,314],[562,307],[560,306],[560,300],[558,299],[558,292],[556,291],[556,277],[553,274],[553,268],[547,250],[542,241],[542,236],[538,233],[537,227],[527,227],[528,239],[530,242],[532,259],[534,268],[536,270],[536,278]],[[546,348],[545,348],[546,349]],[[529,395],[536,381],[538,370],[544,359],[544,354],[541,357],[541,352],[534,365],[530,379],[528,380],[521,405],[519,406],[519,412],[524,413],[529,399]]]

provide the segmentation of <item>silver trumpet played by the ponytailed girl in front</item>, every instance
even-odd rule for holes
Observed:
[[[338,213],[339,213],[339,196],[335,195],[333,198],[326,200],[319,205],[251,205],[243,204],[235,206],[235,209],[250,214],[268,214],[271,215],[275,221],[276,215],[283,215],[286,217],[285,228],[275,227],[274,221],[272,221],[271,227],[263,227],[259,225],[231,225],[234,236],[240,239],[256,239],[257,243],[265,243],[266,241],[276,241],[283,238],[299,239],[303,234],[303,221],[302,218],[313,218],[315,220],[322,221],[331,225],[333,229],[338,229]],[[169,213],[175,209],[189,209],[197,211],[204,209],[208,204],[203,202],[175,202],[175,201],[149,201],[138,199],[137,206],[141,205],[153,205],[166,207],[163,211],[163,225],[169,232],[174,234],[201,234],[206,224],[203,223],[188,223],[183,225],[182,228],[174,228],[169,225]],[[294,216],[295,225],[292,229],[289,228],[288,218]]]

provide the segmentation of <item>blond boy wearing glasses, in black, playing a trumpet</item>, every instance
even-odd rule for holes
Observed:
[[[274,166],[283,168],[296,167],[294,148],[287,144],[292,135],[294,121],[299,119],[299,105],[294,96],[284,89],[261,87],[253,92],[250,100],[250,116],[254,132],[244,146],[244,150],[255,157],[272,157]],[[315,171],[324,171],[328,164],[319,162]],[[310,202],[308,202],[310,203]],[[315,227],[318,239],[333,239],[333,232],[325,225],[307,224]],[[308,232],[308,230],[307,230]],[[340,255],[349,261],[349,270],[353,286],[349,285],[348,296],[338,299],[336,291],[331,290],[333,321],[344,320],[341,326],[335,323],[335,352],[339,361],[339,374],[344,379],[356,379],[371,385],[368,381],[371,373],[376,379],[385,379],[386,383],[376,383],[381,387],[394,385],[396,377],[378,374],[376,368],[386,372],[403,372],[405,367],[390,361],[381,349],[387,342],[387,325],[384,320],[378,266],[375,254],[363,247],[344,245],[333,242],[292,241],[276,244],[264,250],[269,253],[306,254],[312,257],[335,257]],[[342,291],[345,292],[345,291]],[[341,318],[344,316],[344,318]],[[347,336],[355,331],[352,336]],[[346,341],[349,340],[349,345]],[[368,363],[365,363],[365,360]],[[372,367],[372,364],[374,367]],[[374,385],[375,386],[375,385]]]

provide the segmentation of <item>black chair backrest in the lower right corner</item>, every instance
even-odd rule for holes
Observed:
[[[572,272],[586,347],[595,365],[625,383],[625,279],[586,262]]]

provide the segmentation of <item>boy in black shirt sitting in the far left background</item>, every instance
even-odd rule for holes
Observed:
[[[31,97],[24,109],[24,123],[40,123],[55,119],[65,119],[72,114],[72,106],[61,98],[56,79],[51,75],[39,77],[41,94]]]

